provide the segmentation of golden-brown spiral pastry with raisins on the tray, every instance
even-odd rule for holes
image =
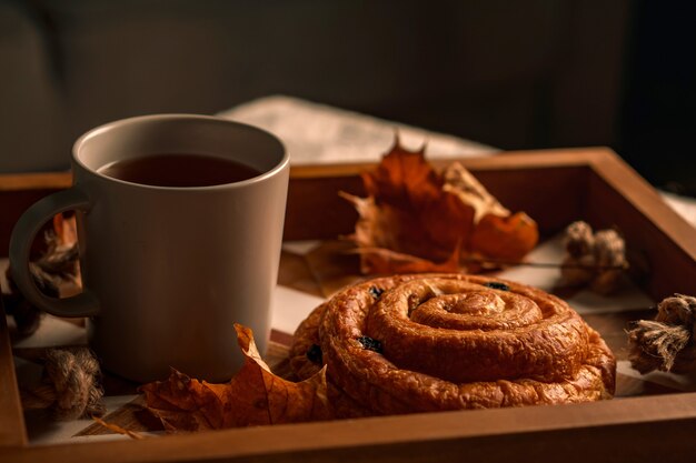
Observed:
[[[563,300],[480,275],[411,274],[346,288],[299,325],[300,379],[327,364],[339,416],[608,399],[616,361]]]

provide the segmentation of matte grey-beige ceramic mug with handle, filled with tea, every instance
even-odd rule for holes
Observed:
[[[209,187],[153,187],[100,173],[151,154],[200,154],[255,168],[248,180]],[[289,158],[270,133],[215,117],[158,114],[93,129],[72,150],[72,188],[43,198],[16,224],[12,276],[40,309],[88,316],[102,366],[138,382],[169,368],[208,381],[242,363],[233,324],[270,335]],[[31,242],[54,214],[74,210],[83,291],[42,294],[29,273]]]

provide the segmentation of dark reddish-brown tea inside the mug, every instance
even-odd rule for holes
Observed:
[[[261,172],[225,158],[203,154],[150,154],[99,169],[112,179],[153,187],[212,187],[240,182]]]

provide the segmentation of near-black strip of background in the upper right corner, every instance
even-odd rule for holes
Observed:
[[[696,7],[635,2],[610,145],[654,184],[696,195]]]

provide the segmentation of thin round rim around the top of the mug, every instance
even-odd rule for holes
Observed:
[[[103,173],[99,172],[98,169],[92,169],[91,167],[87,165],[82,161],[82,159],[80,159],[79,157],[80,147],[84,144],[88,140],[95,137],[99,137],[102,133],[106,133],[108,131],[115,130],[123,125],[131,125],[131,124],[137,124],[140,122],[147,122],[147,121],[168,121],[168,120],[169,121],[175,121],[175,120],[207,121],[207,122],[235,125],[241,130],[257,132],[268,138],[272,142],[277,143],[278,148],[282,152],[282,157],[280,158],[278,163],[274,165],[271,169],[265,170],[264,172],[259,173],[258,175],[251,177],[250,179],[246,179],[246,180],[241,180],[237,182],[230,182],[230,183],[219,183],[219,184],[213,184],[213,185],[200,185],[200,187],[162,187],[162,185],[152,185],[152,184],[147,184],[147,183],[131,182],[131,181],[118,179],[115,177],[105,175]],[[265,181],[268,178],[275,177],[278,172],[286,169],[286,167],[290,163],[290,155],[288,153],[288,150],[285,147],[285,143],[282,143],[282,141],[278,137],[272,134],[271,132],[265,129],[261,129],[259,127],[255,127],[255,125],[247,124],[243,122],[233,121],[231,119],[225,119],[218,115],[196,114],[196,113],[156,113],[156,114],[135,115],[130,118],[117,119],[110,122],[106,122],[103,124],[97,125],[88,130],[74,141],[74,143],[72,144],[71,158],[72,158],[72,161],[76,164],[78,164],[84,172],[89,172],[90,174],[101,178],[103,180],[122,183],[125,185],[130,185],[135,188],[165,190],[165,191],[167,190],[169,191],[201,191],[201,190],[208,191],[208,190],[220,190],[220,189],[229,189],[229,188],[241,188],[248,184],[259,183],[259,182]]]

